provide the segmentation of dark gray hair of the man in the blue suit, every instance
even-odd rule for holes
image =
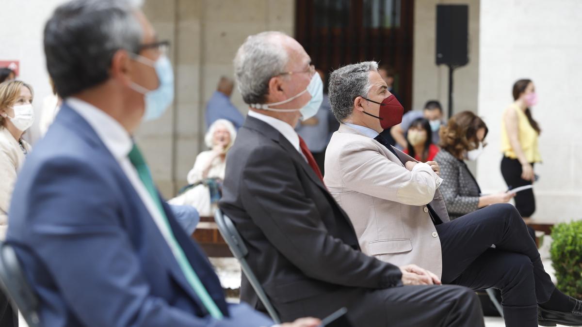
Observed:
[[[56,8],[44,28],[44,52],[62,98],[109,79],[119,49],[139,52],[140,6],[140,0],[73,0]]]

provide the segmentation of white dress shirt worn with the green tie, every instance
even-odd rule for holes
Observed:
[[[129,157],[127,157],[133,148],[133,141],[129,133],[127,133],[127,130],[107,113],[81,99],[68,98],[66,99],[66,103],[70,108],[73,108],[74,111],[79,113],[81,117],[87,120],[87,123],[93,127],[97,136],[105,144],[107,150],[117,160],[176,257],[176,251],[178,249],[173,248],[172,242],[169,241],[172,236],[169,227],[164,221],[165,218],[162,217],[154,199],[151,198],[150,193],[145,189],[143,182],[141,182],[136,168],[129,161]]]

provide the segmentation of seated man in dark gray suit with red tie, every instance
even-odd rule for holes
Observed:
[[[219,207],[249,248],[249,265],[283,320],[347,307],[356,326],[483,326],[475,294],[433,273],[360,251],[352,223],[322,183],[293,127],[321,104],[321,79],[288,35],[251,35],[235,58],[250,111],[226,158]],[[406,285],[406,286],[403,286]],[[262,308],[243,280],[241,298]]]

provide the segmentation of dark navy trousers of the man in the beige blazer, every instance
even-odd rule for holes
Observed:
[[[443,283],[500,289],[506,326],[538,325],[537,304],[548,301],[555,286],[513,205],[489,205],[436,228]]]

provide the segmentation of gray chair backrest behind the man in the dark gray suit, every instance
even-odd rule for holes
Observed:
[[[230,218],[228,218],[228,216],[223,215],[220,209],[217,209],[215,212],[214,221],[217,223],[218,230],[222,234],[226,244],[228,244],[230,251],[240,262],[240,267],[242,268],[244,275],[249,279],[249,282],[251,283],[251,286],[253,286],[255,293],[257,293],[258,298],[261,300],[265,308],[267,308],[267,312],[269,312],[271,319],[273,319],[276,324],[281,324],[281,320],[279,320],[275,308],[269,301],[267,294],[265,294],[262,289],[261,283],[258,282],[257,277],[254,275],[253,271],[251,271],[251,268],[245,259],[246,255],[249,254],[249,250],[244,245],[243,238],[240,237],[235,224],[230,220]]]

